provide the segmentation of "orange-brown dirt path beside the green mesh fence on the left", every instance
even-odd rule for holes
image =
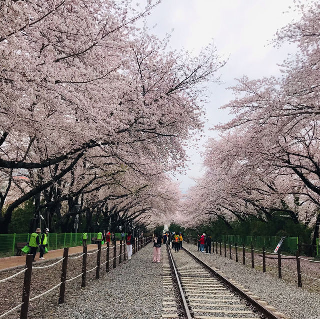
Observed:
[[[105,246],[105,245],[103,245]],[[88,245],[88,251],[89,250],[94,250],[97,249],[96,244],[90,244]],[[75,246],[75,247],[70,247],[69,248],[69,254],[73,253],[80,253],[83,251],[83,246]],[[35,259],[39,261],[39,252],[36,253]],[[52,259],[56,257],[63,257],[63,248],[61,249],[56,249],[56,250],[50,250],[48,251],[47,254],[44,255],[45,259]],[[42,261],[42,260],[41,260]],[[25,265],[25,254],[21,256],[10,256],[10,257],[3,257],[0,258],[0,270],[5,269],[5,268],[10,268],[10,267],[15,267],[15,266],[20,266],[20,265]]]

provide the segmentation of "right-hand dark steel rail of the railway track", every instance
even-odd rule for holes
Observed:
[[[199,259],[197,256],[195,256],[193,253],[191,253],[188,249],[183,247],[185,252],[187,252],[190,256],[192,256],[196,261],[198,261],[201,265],[206,267],[208,270],[210,270],[214,275],[219,277],[226,285],[231,287],[233,290],[238,292],[241,296],[243,296],[246,300],[248,300],[254,307],[256,307],[263,315],[268,317],[269,319],[281,319],[280,317],[276,316],[272,311],[264,307],[262,304],[260,304],[257,300],[252,298],[250,295],[248,295],[246,292],[244,292],[242,289],[238,288],[234,284],[232,284],[228,279],[226,279],[224,276],[219,274],[217,271],[215,271],[213,268],[211,268],[209,265],[207,265],[205,262],[203,262],[201,259]]]

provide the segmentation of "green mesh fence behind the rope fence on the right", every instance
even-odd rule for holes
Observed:
[[[262,248],[265,247],[267,250],[275,249],[277,244],[279,243],[281,236],[241,236],[241,235],[220,235],[219,238],[212,239],[213,241],[222,241],[223,243],[231,244],[231,245],[252,245],[254,248]],[[287,252],[295,252],[298,249],[298,237],[286,237],[284,242],[282,243],[281,250]],[[319,241],[317,243],[317,252],[319,251]]]

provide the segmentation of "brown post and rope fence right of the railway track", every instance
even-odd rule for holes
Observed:
[[[196,238],[190,237],[190,238],[188,238],[188,242],[191,244],[194,244],[194,245],[198,245],[198,239],[196,239]],[[227,247],[228,247],[228,249],[227,249]],[[277,269],[279,278],[282,278],[282,270],[285,272],[288,272],[288,273],[296,274],[299,287],[302,287],[302,278],[301,278],[302,276],[320,281],[320,278],[315,278],[315,277],[312,277],[312,276],[309,276],[309,275],[302,273],[301,272],[301,264],[300,264],[301,260],[304,260],[304,261],[310,262],[310,263],[320,263],[320,261],[310,260],[307,258],[300,257],[298,250],[296,251],[296,254],[293,257],[296,260],[296,271],[292,271],[292,270],[289,270],[289,269],[282,267],[282,259],[284,258],[284,260],[285,260],[287,258],[292,258],[292,257],[289,255],[281,254],[279,251],[277,251],[277,253],[268,252],[265,250],[265,247],[263,247],[262,250],[254,249],[252,243],[251,243],[251,248],[249,248],[249,247],[246,247],[244,244],[242,246],[238,246],[237,244],[231,245],[231,243],[226,244],[226,243],[222,243],[222,242],[218,242],[218,241],[211,242],[211,248],[212,248],[213,253],[215,250],[216,254],[220,254],[221,256],[224,255],[224,257],[227,257],[227,255],[229,254],[229,259],[232,259],[232,247],[235,248],[235,253],[233,256],[235,256],[236,262],[239,261],[239,257],[241,257],[241,255],[242,255],[243,265],[246,265],[246,263],[249,263],[250,261],[251,261],[252,268],[255,268],[256,265],[259,265],[259,266],[262,265],[264,273],[266,272],[266,266],[269,266],[269,267]],[[238,249],[242,249],[242,254],[238,254]],[[227,254],[227,251],[228,251],[228,254]],[[250,254],[250,257],[246,255],[247,253]],[[262,253],[262,256],[261,256],[261,254],[255,255],[254,253]],[[273,255],[274,257],[276,256],[274,259],[277,260],[277,265],[272,265],[272,264],[266,263],[266,254]],[[259,258],[262,258],[262,262],[261,262],[261,259],[259,259]]]

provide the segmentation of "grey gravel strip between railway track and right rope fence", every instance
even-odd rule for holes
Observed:
[[[203,261],[223,271],[224,275],[249,289],[290,319],[320,319],[320,292],[312,293],[284,280],[245,267],[223,255],[206,255],[197,251],[197,246],[183,244]]]

